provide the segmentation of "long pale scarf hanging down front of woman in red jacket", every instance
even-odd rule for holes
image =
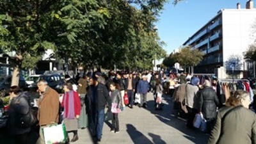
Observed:
[[[67,96],[68,96],[68,99],[67,99]],[[68,105],[66,103],[67,100],[68,100]],[[64,110],[63,118],[74,119],[75,118],[75,106],[74,106],[73,90],[70,90],[69,92],[65,93],[64,108],[67,108],[67,109]]]

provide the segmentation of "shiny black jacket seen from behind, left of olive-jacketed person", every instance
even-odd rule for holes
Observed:
[[[219,100],[213,88],[205,87],[200,91],[199,104],[200,111],[203,113],[204,118],[216,117],[216,109],[219,105]]]

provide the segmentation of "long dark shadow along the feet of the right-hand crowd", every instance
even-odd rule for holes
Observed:
[[[148,108],[153,115],[155,115],[161,122],[170,127],[173,127],[184,134],[184,138],[192,141],[193,143],[206,143],[207,136],[198,130],[187,129],[186,120],[178,118],[174,115],[173,111],[173,102],[170,99],[170,95],[163,95],[163,101],[166,101],[168,104],[163,104],[163,111],[156,111],[154,107],[154,100],[147,102]],[[173,114],[173,115],[172,115]]]

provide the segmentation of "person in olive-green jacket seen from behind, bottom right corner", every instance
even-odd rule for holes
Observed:
[[[219,109],[207,144],[256,142],[256,115],[249,108],[250,93],[237,90]]]

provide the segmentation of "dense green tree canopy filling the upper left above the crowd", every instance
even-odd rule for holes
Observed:
[[[2,0],[0,47],[23,56],[22,68],[53,49],[74,66],[150,69],[166,53],[154,24],[167,2]]]

